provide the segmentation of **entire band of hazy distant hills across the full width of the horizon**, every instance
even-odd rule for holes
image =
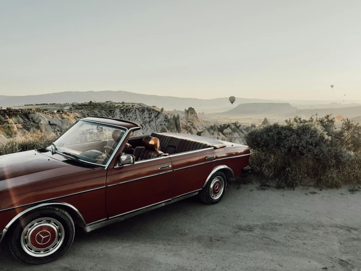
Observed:
[[[1,91],[2,93],[4,91]],[[174,93],[176,95],[177,93]],[[313,109],[313,108],[340,108],[349,106],[361,106],[356,104],[361,101],[354,101],[354,104],[342,104],[332,103],[331,101],[320,100],[268,100],[268,99],[247,99],[236,97],[234,104],[232,105],[228,97],[216,98],[216,99],[196,99],[196,98],[180,98],[174,96],[158,96],[139,94],[128,91],[65,91],[57,93],[48,93],[40,95],[25,95],[25,96],[5,96],[0,95],[0,106],[12,107],[23,106],[25,104],[42,104],[42,103],[72,103],[72,102],[135,102],[145,103],[149,106],[157,106],[164,108],[167,111],[180,110],[193,107],[197,112],[204,111],[205,113],[226,112],[235,109],[239,104],[253,104],[253,103],[276,103],[276,104],[289,104],[298,109]],[[312,107],[311,107],[312,106]],[[282,106],[281,106],[282,107]],[[274,112],[275,109],[271,108]],[[288,109],[287,109],[288,110]],[[286,111],[287,111],[286,110]],[[277,111],[277,110],[276,110]]]

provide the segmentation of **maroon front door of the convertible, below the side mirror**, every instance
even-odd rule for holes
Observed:
[[[107,170],[108,218],[171,199],[170,157],[151,158]]]

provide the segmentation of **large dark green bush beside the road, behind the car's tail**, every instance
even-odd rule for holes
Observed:
[[[344,119],[340,129],[330,115],[261,126],[245,137],[250,164],[279,187],[311,181],[320,187],[361,183],[361,126]]]

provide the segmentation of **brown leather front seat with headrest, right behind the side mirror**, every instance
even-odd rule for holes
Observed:
[[[136,147],[134,149],[133,155],[135,161],[156,158],[164,155],[164,153],[159,150],[160,142],[156,137],[145,136],[142,140],[142,145],[144,147]]]

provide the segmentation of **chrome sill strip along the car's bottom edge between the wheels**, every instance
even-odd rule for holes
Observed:
[[[90,232],[92,230],[95,230],[95,229],[98,229],[98,228],[113,224],[115,222],[123,221],[123,220],[125,220],[127,218],[130,218],[130,217],[133,217],[135,215],[139,215],[141,213],[145,213],[145,212],[148,212],[150,210],[154,210],[156,208],[168,205],[170,203],[174,203],[174,202],[177,202],[177,201],[192,197],[192,196],[198,194],[198,192],[199,192],[199,190],[195,190],[195,191],[192,191],[192,192],[177,196],[177,197],[175,197],[173,199],[169,199],[167,201],[163,201],[163,202],[160,202],[160,203],[154,203],[154,204],[151,204],[151,205],[148,205],[148,206],[136,209],[136,210],[129,211],[127,213],[123,213],[123,214],[120,214],[120,215],[110,217],[107,220],[99,220],[99,221],[87,224],[87,225],[85,225],[85,231]]]

